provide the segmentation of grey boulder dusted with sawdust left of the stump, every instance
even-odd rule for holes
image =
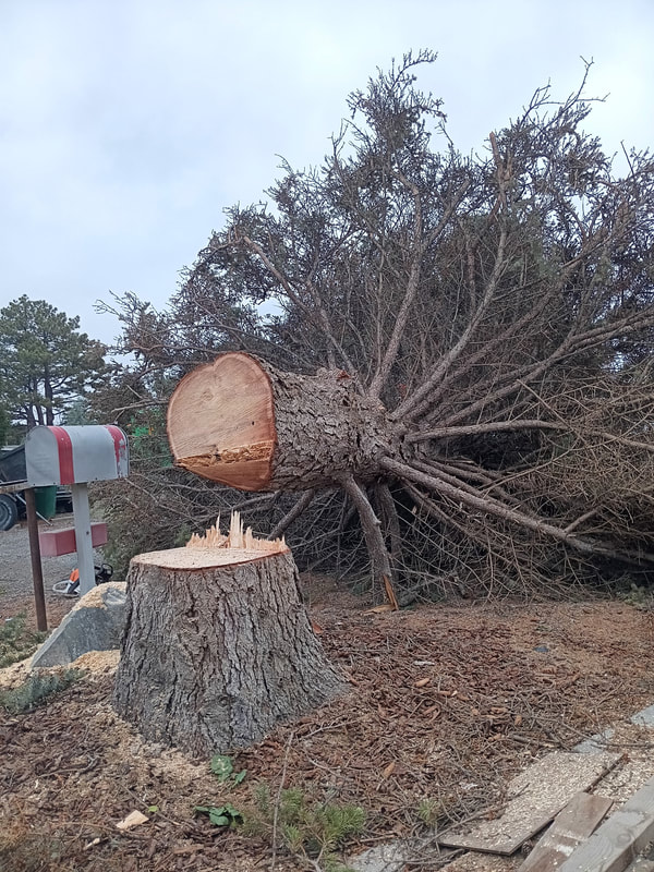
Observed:
[[[65,666],[88,651],[119,649],[126,618],[126,583],[98,584],[75,603],[32,658],[31,668]]]

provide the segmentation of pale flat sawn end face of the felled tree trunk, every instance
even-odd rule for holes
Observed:
[[[168,405],[177,465],[240,491],[265,491],[276,432],[270,379],[249,354],[223,354],[183,378]]]

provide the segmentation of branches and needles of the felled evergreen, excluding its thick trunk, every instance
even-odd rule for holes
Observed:
[[[588,68],[578,92],[537,89],[464,155],[416,86],[434,60],[379,71],[319,167],[283,164],[267,203],[228,209],[167,311],[117,301],[136,362],[111,408],[165,405],[221,351],[344,372],[387,410],[402,459],[307,500],[289,529],[301,564],[362,568],[359,488],[415,595],[542,590],[625,564],[646,577],[654,159],[626,152],[620,171],[588,132]],[[180,471],[148,481],[169,541],[225,502],[277,533],[289,509],[284,494],[244,500]],[[130,500],[109,501],[109,518],[147,514],[145,480]]]

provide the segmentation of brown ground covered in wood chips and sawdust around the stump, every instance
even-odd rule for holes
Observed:
[[[304,588],[348,690],[213,761],[148,743],[117,716],[117,652],[85,655],[76,680],[23,708],[7,701],[26,667],[2,670],[0,870],[338,869],[493,816],[535,758],[654,701],[654,611],[627,601],[392,613],[328,578]],[[456,856],[434,845],[407,869]]]

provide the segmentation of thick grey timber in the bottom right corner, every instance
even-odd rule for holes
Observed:
[[[654,778],[559,867],[559,872],[623,872],[654,838]]]

